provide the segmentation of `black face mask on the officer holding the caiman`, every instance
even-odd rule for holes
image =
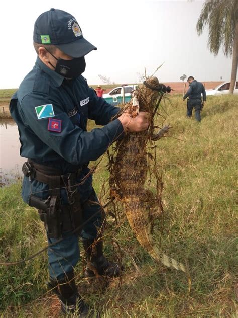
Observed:
[[[77,78],[85,71],[86,62],[84,56],[76,57],[72,60],[65,60],[55,57],[50,51],[48,52],[57,60],[56,66],[49,62],[50,65],[54,67],[56,73],[59,73],[66,78]]]

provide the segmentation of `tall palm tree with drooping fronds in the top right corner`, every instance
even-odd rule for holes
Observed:
[[[238,0],[206,0],[196,31],[201,35],[208,25],[208,47],[217,55],[221,46],[225,56],[233,55],[229,93],[233,94],[238,64]]]

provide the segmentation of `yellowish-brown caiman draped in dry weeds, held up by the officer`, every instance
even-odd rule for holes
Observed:
[[[132,100],[122,107],[122,112],[127,110],[132,117],[137,116],[139,110],[148,112],[150,126],[146,131],[128,132],[117,142],[110,168],[110,188],[112,195],[122,204],[123,212],[140,244],[153,258],[165,266],[185,272],[189,277],[182,263],[163,254],[153,242],[151,207],[156,198],[145,188],[149,171],[147,146],[163,137],[169,129],[165,126],[155,134],[153,121],[161,98],[168,90],[165,85],[159,84],[156,77],[149,77],[141,89],[134,91]]]

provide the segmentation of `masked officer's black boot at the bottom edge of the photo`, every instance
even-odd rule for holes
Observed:
[[[60,299],[61,311],[67,314],[77,314],[80,318],[95,317],[95,312],[90,310],[77,292],[74,273],[68,273],[62,280],[50,280],[48,288]],[[99,314],[96,315],[99,318]]]

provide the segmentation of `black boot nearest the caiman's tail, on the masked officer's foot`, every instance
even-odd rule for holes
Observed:
[[[85,277],[92,277],[97,274],[108,277],[118,277],[121,268],[118,264],[109,262],[103,255],[103,241],[82,240],[86,252],[87,265],[84,271]]]

